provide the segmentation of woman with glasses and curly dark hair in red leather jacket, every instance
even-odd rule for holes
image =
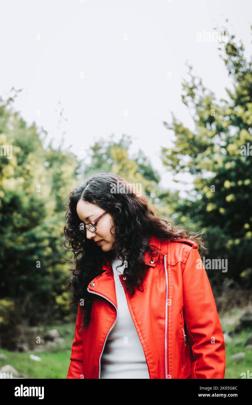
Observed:
[[[224,378],[201,234],[159,219],[112,173],[92,175],[70,194],[66,220],[68,286],[78,304],[67,378]]]

